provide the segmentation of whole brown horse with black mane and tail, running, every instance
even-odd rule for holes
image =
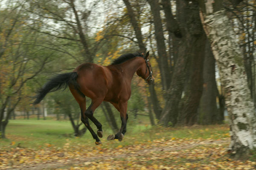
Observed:
[[[121,128],[115,135],[109,135],[108,140],[122,141],[126,132],[128,119],[127,103],[131,96],[131,79],[135,72],[148,84],[154,83],[151,64],[148,60],[149,51],[144,56],[140,53],[124,54],[115,59],[111,65],[102,66],[93,63],[79,65],[71,73],[57,74],[40,89],[35,96],[38,104],[47,93],[69,87],[71,93],[81,109],[81,121],[90,131],[96,144],[102,144],[102,125],[93,116],[95,109],[103,102],[110,102],[119,112],[122,121]],[[91,99],[90,106],[86,109],[85,96]],[[97,135],[89,125],[90,119],[97,127]]]

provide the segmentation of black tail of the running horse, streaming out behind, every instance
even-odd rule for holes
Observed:
[[[57,76],[49,79],[49,81],[43,86],[43,88],[38,89],[37,95],[35,96],[35,102],[33,104],[38,104],[46,96],[47,93],[52,91],[57,91],[61,88],[67,88],[68,85],[72,84],[75,88],[79,88],[76,82],[78,75],[76,72],[58,74]]]

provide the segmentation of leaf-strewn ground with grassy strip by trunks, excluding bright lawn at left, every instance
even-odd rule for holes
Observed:
[[[186,133],[186,130],[186,136],[175,135]],[[65,137],[61,145],[48,141],[44,146],[28,147],[25,142],[18,143],[21,136],[9,135],[9,140],[3,141],[8,144],[0,145],[0,169],[255,170],[255,153],[243,160],[230,157],[227,152],[230,142],[228,133],[225,133],[227,130],[225,125],[168,130],[151,127],[142,130],[140,137],[129,133],[122,142],[103,139],[101,146],[94,145],[91,138],[81,137],[84,141],[92,141],[84,144],[80,138]],[[174,135],[170,136],[169,131]],[[197,137],[196,132],[207,138]],[[148,139],[148,133],[154,133],[154,137]]]

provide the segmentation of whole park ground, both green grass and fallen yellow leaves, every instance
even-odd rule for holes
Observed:
[[[92,125],[94,127],[94,125]],[[255,169],[247,160],[229,156],[228,125],[151,127],[128,124],[122,142],[96,146],[89,132],[74,137],[69,121],[10,120],[8,139],[0,141],[0,169]]]

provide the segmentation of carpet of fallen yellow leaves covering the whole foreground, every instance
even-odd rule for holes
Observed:
[[[107,142],[105,142],[107,144]],[[117,143],[117,141],[113,141]],[[256,160],[232,159],[229,138],[157,139],[123,146],[85,145],[63,148],[45,144],[44,149],[10,146],[0,148],[0,169],[12,170],[254,170]],[[12,147],[11,147],[12,146]]]

